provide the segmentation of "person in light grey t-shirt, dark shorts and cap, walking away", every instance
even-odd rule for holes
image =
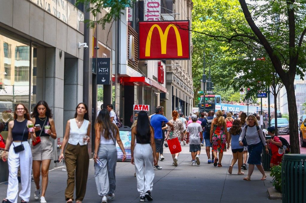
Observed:
[[[201,141],[203,140],[203,128],[200,123],[197,123],[198,116],[191,116],[192,123],[187,126],[187,141],[189,143],[189,152],[191,152],[192,166],[200,165]],[[199,135],[200,134],[200,135]]]

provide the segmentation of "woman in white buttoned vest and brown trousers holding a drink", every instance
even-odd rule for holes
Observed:
[[[62,152],[58,158],[61,162],[65,151],[68,174],[65,190],[67,203],[73,202],[74,186],[76,187],[76,203],[81,203],[86,193],[89,167],[87,143],[90,141],[90,126],[88,107],[85,103],[80,103],[76,106],[74,118],[67,121]]]

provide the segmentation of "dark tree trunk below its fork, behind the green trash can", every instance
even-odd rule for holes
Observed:
[[[287,91],[288,112],[289,112],[289,131],[290,131],[290,145],[292,154],[300,154],[300,139],[297,123],[297,103],[295,98],[295,90],[293,81],[284,83]]]

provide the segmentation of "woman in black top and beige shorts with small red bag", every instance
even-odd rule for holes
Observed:
[[[31,121],[35,125],[40,125],[40,127],[35,127],[35,131],[36,136],[40,136],[41,140],[40,143],[32,146],[33,178],[36,185],[34,198],[35,200],[40,198],[41,203],[46,203],[45,193],[48,186],[48,171],[50,162],[53,159],[53,144],[50,137],[56,139],[55,125],[51,109],[45,101],[37,102],[31,117]],[[45,130],[46,125],[50,126],[49,130]],[[41,187],[39,185],[40,172],[42,176]],[[41,197],[39,197],[40,190],[42,190]]]

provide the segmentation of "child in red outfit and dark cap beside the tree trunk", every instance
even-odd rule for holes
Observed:
[[[278,153],[278,148],[282,147],[282,141],[280,141],[279,137],[274,135],[275,133],[275,127],[271,126],[267,128],[268,130],[268,135],[271,136],[271,139],[266,140],[268,143],[267,146],[269,149],[272,151],[272,157],[271,157],[271,162],[270,162],[270,167],[277,166],[279,165],[280,162],[282,162],[282,157],[283,154]]]

